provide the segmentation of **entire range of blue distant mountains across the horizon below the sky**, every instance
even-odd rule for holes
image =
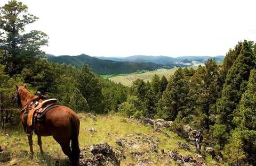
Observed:
[[[168,56],[146,56],[135,55],[129,57],[92,57],[86,54],[77,56],[60,55],[54,56],[46,54],[47,59],[54,63],[65,63],[81,68],[86,62],[94,73],[106,74],[127,74],[137,71],[154,71],[159,68],[173,68],[185,66],[204,65],[207,59],[215,58],[217,62],[222,62],[225,56],[188,56],[188,57],[168,57]]]

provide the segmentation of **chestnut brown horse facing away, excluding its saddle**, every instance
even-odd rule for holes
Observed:
[[[23,116],[25,116],[25,110],[28,103],[31,101],[39,101],[41,99],[38,95],[32,95],[29,93],[25,89],[26,86],[16,85],[16,88],[15,98],[17,98],[18,105],[22,108],[19,118],[23,127],[25,127],[27,125],[27,121],[23,120]],[[37,135],[37,143],[40,147],[41,153],[43,154],[41,136],[53,136],[55,141],[60,144],[62,151],[68,156],[71,166],[79,165],[79,126],[79,118],[76,113],[68,107],[59,106],[47,111],[45,114],[45,120],[34,124],[34,132]],[[28,142],[31,156],[33,156],[32,135],[28,135]]]

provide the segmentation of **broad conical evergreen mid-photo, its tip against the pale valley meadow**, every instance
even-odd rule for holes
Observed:
[[[182,68],[179,68],[167,84],[159,104],[158,115],[162,114],[167,120],[175,120],[179,111],[186,109],[188,92],[188,82]]]

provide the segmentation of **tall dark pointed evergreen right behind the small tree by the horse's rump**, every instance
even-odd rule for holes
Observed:
[[[86,63],[78,73],[77,88],[87,100],[89,108],[94,113],[103,113],[102,86],[97,76],[95,76]]]

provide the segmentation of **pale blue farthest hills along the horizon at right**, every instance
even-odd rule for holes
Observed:
[[[124,61],[130,61],[130,62],[137,62],[137,63],[156,63],[156,64],[162,64],[162,65],[171,65],[171,64],[182,64],[183,60],[190,61],[190,65],[193,65],[192,61],[196,60],[198,63],[205,63],[207,59],[212,59],[215,58],[217,62],[222,62],[225,58],[225,56],[183,56],[183,57],[169,57],[169,56],[146,56],[146,55],[134,55],[134,56],[129,56],[129,57],[119,57],[119,58],[114,58],[114,57],[98,57],[100,59],[105,59],[105,60],[116,60],[119,62],[124,62]],[[187,62],[188,63],[188,62]],[[187,66],[187,65],[185,65]]]

